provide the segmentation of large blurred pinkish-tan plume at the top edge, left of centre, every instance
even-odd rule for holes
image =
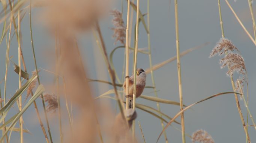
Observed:
[[[44,22],[48,26],[78,32],[91,28],[108,11],[111,0],[46,0],[44,3]]]

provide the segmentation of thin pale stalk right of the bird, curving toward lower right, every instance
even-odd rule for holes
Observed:
[[[148,52],[149,52],[149,66],[150,66],[150,73],[151,73],[151,80],[152,80],[152,85],[154,87],[154,93],[155,96],[158,97],[157,92],[156,92],[156,85],[155,85],[155,78],[154,78],[154,73],[153,73],[153,66],[152,66],[152,57],[151,57],[151,45],[150,45],[150,17],[149,17],[149,0],[147,0],[147,45],[148,45]],[[160,106],[159,103],[156,102],[156,106],[158,108],[158,111],[160,112]],[[162,118],[162,115],[160,115],[160,117]],[[163,120],[161,120],[161,126],[162,129],[164,129],[164,122]],[[167,139],[167,135],[166,132],[164,131],[164,138],[165,138],[165,142],[168,143],[168,139]]]

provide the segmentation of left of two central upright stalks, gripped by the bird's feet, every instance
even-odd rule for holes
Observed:
[[[126,25],[126,92],[129,92],[129,20],[130,20],[130,0],[127,0],[127,25]],[[129,108],[129,98],[126,98],[125,109]]]

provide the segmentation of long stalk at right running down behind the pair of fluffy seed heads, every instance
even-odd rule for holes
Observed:
[[[226,1],[228,3],[228,1]],[[218,0],[218,6],[219,6],[219,17],[220,17],[220,28],[221,28],[221,32],[222,32],[222,38],[225,38],[225,35],[224,35],[224,28],[223,28],[223,21],[222,21],[222,14],[221,14],[221,8],[220,8],[220,0]],[[230,6],[230,5],[229,5]],[[231,7],[232,8],[232,7]],[[227,55],[228,53],[225,52],[225,54]],[[228,66],[228,69],[230,69],[230,67]],[[235,84],[234,84],[234,79],[233,79],[233,76],[230,75],[230,79],[231,79],[231,85],[232,85],[232,88],[234,90],[234,92],[236,91],[235,89]],[[236,104],[237,104],[237,109],[238,109],[238,113],[240,115],[240,118],[241,118],[241,121],[242,121],[242,124],[243,124],[243,128],[244,128],[244,132],[246,133],[246,139],[249,141],[249,143],[251,142],[250,141],[250,137],[249,137],[249,134],[247,132],[247,128],[246,128],[246,125],[245,125],[245,122],[244,122],[244,117],[243,117],[243,114],[242,114],[242,111],[241,111],[241,108],[240,108],[240,104],[239,104],[239,100],[237,98],[237,94],[234,93],[235,95],[235,101],[236,101]]]

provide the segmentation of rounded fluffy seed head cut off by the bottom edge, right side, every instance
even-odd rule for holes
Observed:
[[[192,143],[214,143],[213,138],[205,130],[197,130],[192,134]]]

